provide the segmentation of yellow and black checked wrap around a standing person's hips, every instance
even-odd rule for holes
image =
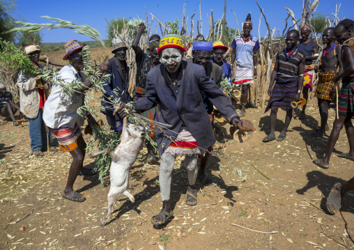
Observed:
[[[334,82],[332,78],[335,76],[334,71],[318,73],[318,84],[316,86],[315,97],[320,98],[322,100],[331,101],[334,94],[332,93],[332,88],[334,86]]]

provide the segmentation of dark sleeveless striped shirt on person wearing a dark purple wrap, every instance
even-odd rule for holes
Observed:
[[[282,78],[298,77],[299,65],[303,58],[305,56],[300,52],[293,54],[290,58],[286,58],[285,49],[279,50],[277,76]]]

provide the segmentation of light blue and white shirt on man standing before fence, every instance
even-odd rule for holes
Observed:
[[[233,39],[231,47],[236,49],[236,63],[243,68],[253,68],[253,52],[259,49],[257,38],[251,36],[248,42],[244,42],[241,36]]]

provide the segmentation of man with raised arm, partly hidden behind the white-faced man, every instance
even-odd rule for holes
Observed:
[[[132,42],[132,49],[135,52],[135,61],[137,62],[137,76],[134,86],[134,100],[139,100],[139,98],[143,97],[146,94],[146,75],[148,72],[154,68],[155,66],[160,64],[161,54],[157,53],[157,49],[160,45],[160,36],[153,35],[149,39],[148,42],[148,50],[147,54],[145,54],[142,49],[138,46],[142,33],[145,31],[145,24],[141,23],[139,25],[139,31],[137,32],[137,36],[135,36]],[[159,121],[159,116],[157,112],[157,108],[154,107],[151,110],[145,111],[142,114],[144,117],[150,120]],[[150,124],[151,130],[153,130],[153,124]],[[151,137],[154,134],[151,133]],[[146,141],[146,148],[148,148],[148,162],[156,162],[157,158],[155,157],[155,150],[151,143]]]

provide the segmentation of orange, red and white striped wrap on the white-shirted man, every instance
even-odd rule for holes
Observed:
[[[59,129],[52,129],[48,127],[48,130],[56,137],[59,143],[59,149],[65,152],[71,152],[77,148],[77,139],[82,137],[80,127],[75,123],[73,128],[71,127],[59,127]]]

